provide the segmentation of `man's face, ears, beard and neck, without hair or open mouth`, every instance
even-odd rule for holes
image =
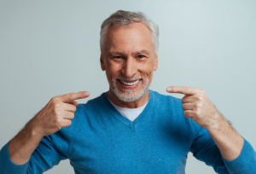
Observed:
[[[139,22],[129,27],[112,26],[106,42],[107,56],[101,55],[101,65],[108,78],[108,98],[119,107],[143,106],[148,102],[148,87],[158,62],[151,32]],[[136,89],[125,90],[119,78],[141,80]]]

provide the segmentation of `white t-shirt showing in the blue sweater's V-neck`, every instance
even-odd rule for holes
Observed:
[[[139,114],[143,113],[144,108],[147,106],[148,102],[146,104],[143,105],[143,107],[137,107],[137,108],[125,108],[125,107],[119,107],[115,104],[113,104],[113,102],[111,102],[109,99],[108,101],[113,105],[113,107],[119,111],[119,113],[121,113],[122,115],[125,116],[125,118],[130,119],[131,121],[133,121],[134,119],[137,118],[137,116],[139,116]]]

